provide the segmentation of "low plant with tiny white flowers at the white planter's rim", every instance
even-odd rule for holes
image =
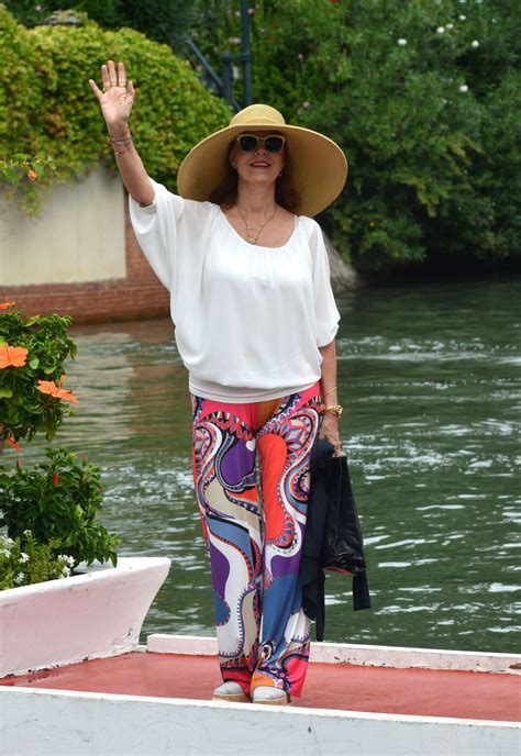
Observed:
[[[58,546],[57,538],[36,543],[31,531],[14,540],[0,535],[0,590],[68,577],[74,558],[67,554],[56,556]]]

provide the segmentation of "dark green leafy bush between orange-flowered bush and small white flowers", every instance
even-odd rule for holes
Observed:
[[[11,538],[30,530],[38,544],[55,544],[76,564],[110,559],[115,566],[121,541],[95,522],[103,500],[99,468],[76,457],[48,448],[45,462],[0,474],[0,525]]]

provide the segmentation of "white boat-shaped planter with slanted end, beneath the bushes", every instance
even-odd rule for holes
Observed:
[[[115,568],[0,591],[0,678],[135,648],[169,567],[166,557],[120,557]]]

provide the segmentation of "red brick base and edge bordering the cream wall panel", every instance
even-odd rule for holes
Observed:
[[[30,315],[57,312],[75,323],[159,318],[169,313],[168,291],[140,249],[125,197],[126,278],[87,284],[4,287],[0,302],[14,301]]]

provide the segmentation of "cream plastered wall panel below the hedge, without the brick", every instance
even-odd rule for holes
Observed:
[[[126,277],[123,186],[100,167],[44,198],[40,218],[0,201],[3,286]]]

